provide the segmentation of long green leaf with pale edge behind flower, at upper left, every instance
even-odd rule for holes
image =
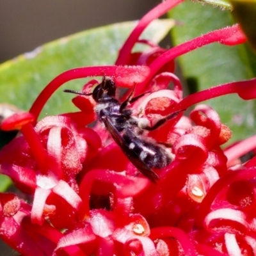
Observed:
[[[136,22],[124,22],[90,29],[3,63],[0,65],[0,102],[28,110],[38,93],[61,72],[75,67],[114,63],[118,49],[135,25]],[[158,43],[172,26],[173,20],[156,20],[143,36]],[[65,88],[79,90],[84,81],[72,81]],[[75,109],[70,102],[73,96],[62,90],[58,90],[47,102],[41,117]]]

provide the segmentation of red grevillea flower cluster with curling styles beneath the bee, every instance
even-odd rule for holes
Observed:
[[[32,198],[29,204],[12,193],[0,195],[0,236],[22,255],[256,255],[256,157],[239,161],[255,148],[256,138],[223,150],[232,132],[214,109],[200,104],[229,93],[255,99],[256,79],[183,97],[173,74],[175,58],[186,52],[213,42],[242,44],[246,38],[237,24],[168,50],[140,38],[152,20],[181,2],[164,1],[147,13],[115,65],[67,70],[45,87],[29,113],[15,113],[1,125],[21,131],[0,151],[1,173]],[[132,52],[137,43],[150,49]],[[83,95],[72,100],[79,111],[37,120],[57,88],[83,77],[100,79],[86,83]],[[156,184],[95,122],[97,102],[90,93],[102,77],[113,79],[120,102],[132,90],[134,97],[141,95],[127,109],[151,127],[176,113],[141,134],[141,140],[157,141],[172,156],[170,164],[154,169]]]

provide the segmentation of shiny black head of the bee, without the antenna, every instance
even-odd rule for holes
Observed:
[[[114,81],[110,78],[104,77],[102,83],[98,84],[93,90],[92,97],[96,102],[100,99],[106,99],[115,97],[116,85]]]

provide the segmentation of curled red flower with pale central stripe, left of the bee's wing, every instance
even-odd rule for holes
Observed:
[[[64,174],[72,177],[81,171],[88,145],[70,118],[47,116],[36,124],[35,129],[45,141],[49,164],[60,179]]]

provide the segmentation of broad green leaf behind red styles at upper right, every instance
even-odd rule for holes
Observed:
[[[191,2],[180,4],[172,12],[172,17],[181,21],[180,26],[172,29],[175,45],[234,24],[230,12]],[[245,45],[228,47],[211,44],[180,56],[180,68],[189,91],[195,92],[254,77],[255,60],[248,57],[252,56],[249,51]],[[232,129],[233,137],[230,142],[255,134],[255,105],[252,100],[244,101],[237,95],[228,95],[205,103],[216,109],[221,121]]]

